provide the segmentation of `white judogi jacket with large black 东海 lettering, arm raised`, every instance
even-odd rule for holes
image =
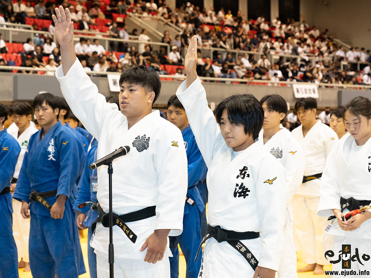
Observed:
[[[184,81],[177,96],[208,167],[207,221],[211,226],[219,225],[236,232],[262,231],[265,247],[259,266],[278,270],[286,218],[285,169],[260,143],[252,144],[231,161],[232,148],[228,148],[213,112],[207,106],[200,79],[197,78],[188,89]],[[249,190],[248,195],[241,192],[245,187]],[[233,252],[230,248],[228,255]]]

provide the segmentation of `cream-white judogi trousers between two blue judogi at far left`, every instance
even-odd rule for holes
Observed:
[[[24,219],[20,214],[22,203],[13,199],[13,236],[16,241],[18,258],[29,262],[28,240],[30,237],[30,219]]]

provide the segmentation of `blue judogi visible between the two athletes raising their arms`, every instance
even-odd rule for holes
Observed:
[[[182,130],[185,151],[188,160],[188,191],[187,196],[191,198],[196,205],[191,206],[185,202],[183,216],[183,232],[178,236],[170,236],[170,250],[173,257],[170,257],[171,278],[179,276],[179,250],[178,243],[184,254],[187,263],[186,278],[196,278],[201,267],[201,255],[196,258],[198,246],[201,243],[201,212],[205,205],[202,201],[197,185],[202,183],[207,172],[204,159],[198,149],[196,139],[194,139],[191,127]]]

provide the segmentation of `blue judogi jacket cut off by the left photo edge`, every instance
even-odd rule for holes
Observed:
[[[0,192],[6,187],[10,187],[10,181],[13,178],[14,170],[18,160],[21,147],[12,135],[7,133],[6,129],[0,132]],[[6,202],[6,203],[5,203]],[[13,213],[12,193],[0,195],[0,213],[9,209]]]

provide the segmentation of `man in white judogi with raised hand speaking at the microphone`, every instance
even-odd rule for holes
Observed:
[[[56,77],[71,110],[98,140],[97,158],[119,146],[131,148],[126,158],[113,162],[113,212],[123,215],[156,206],[156,217],[129,225],[115,221],[115,277],[170,277],[168,235],[180,235],[183,229],[187,157],[180,130],[162,119],[158,110],[152,110],[160,93],[160,78],[143,66],[125,71],[118,80],[120,113],[115,104],[106,103],[76,59],[69,10],[63,11],[60,6],[56,14],[58,19],[53,16],[53,20],[62,56]],[[98,168],[97,192],[105,213],[106,169]],[[136,241],[132,233],[137,235]],[[91,240],[97,254],[98,278],[108,277],[108,239],[109,229],[98,223]],[[145,249],[147,253],[143,252]]]

